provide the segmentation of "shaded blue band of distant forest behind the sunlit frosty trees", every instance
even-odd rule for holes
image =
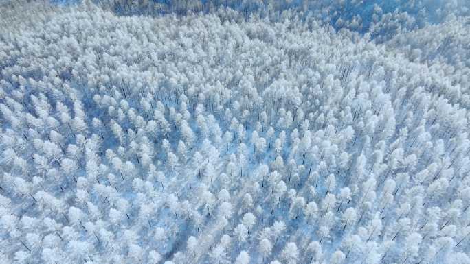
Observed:
[[[53,0],[75,2],[79,0]],[[83,0],[86,1],[86,0]],[[368,34],[377,42],[389,40],[396,34],[441,23],[449,15],[470,16],[466,0],[90,0],[116,14],[186,15],[210,13],[219,7],[237,10],[247,19],[257,15],[272,21],[282,21],[282,12],[293,10],[300,19],[315,17],[335,29],[348,29]]]

